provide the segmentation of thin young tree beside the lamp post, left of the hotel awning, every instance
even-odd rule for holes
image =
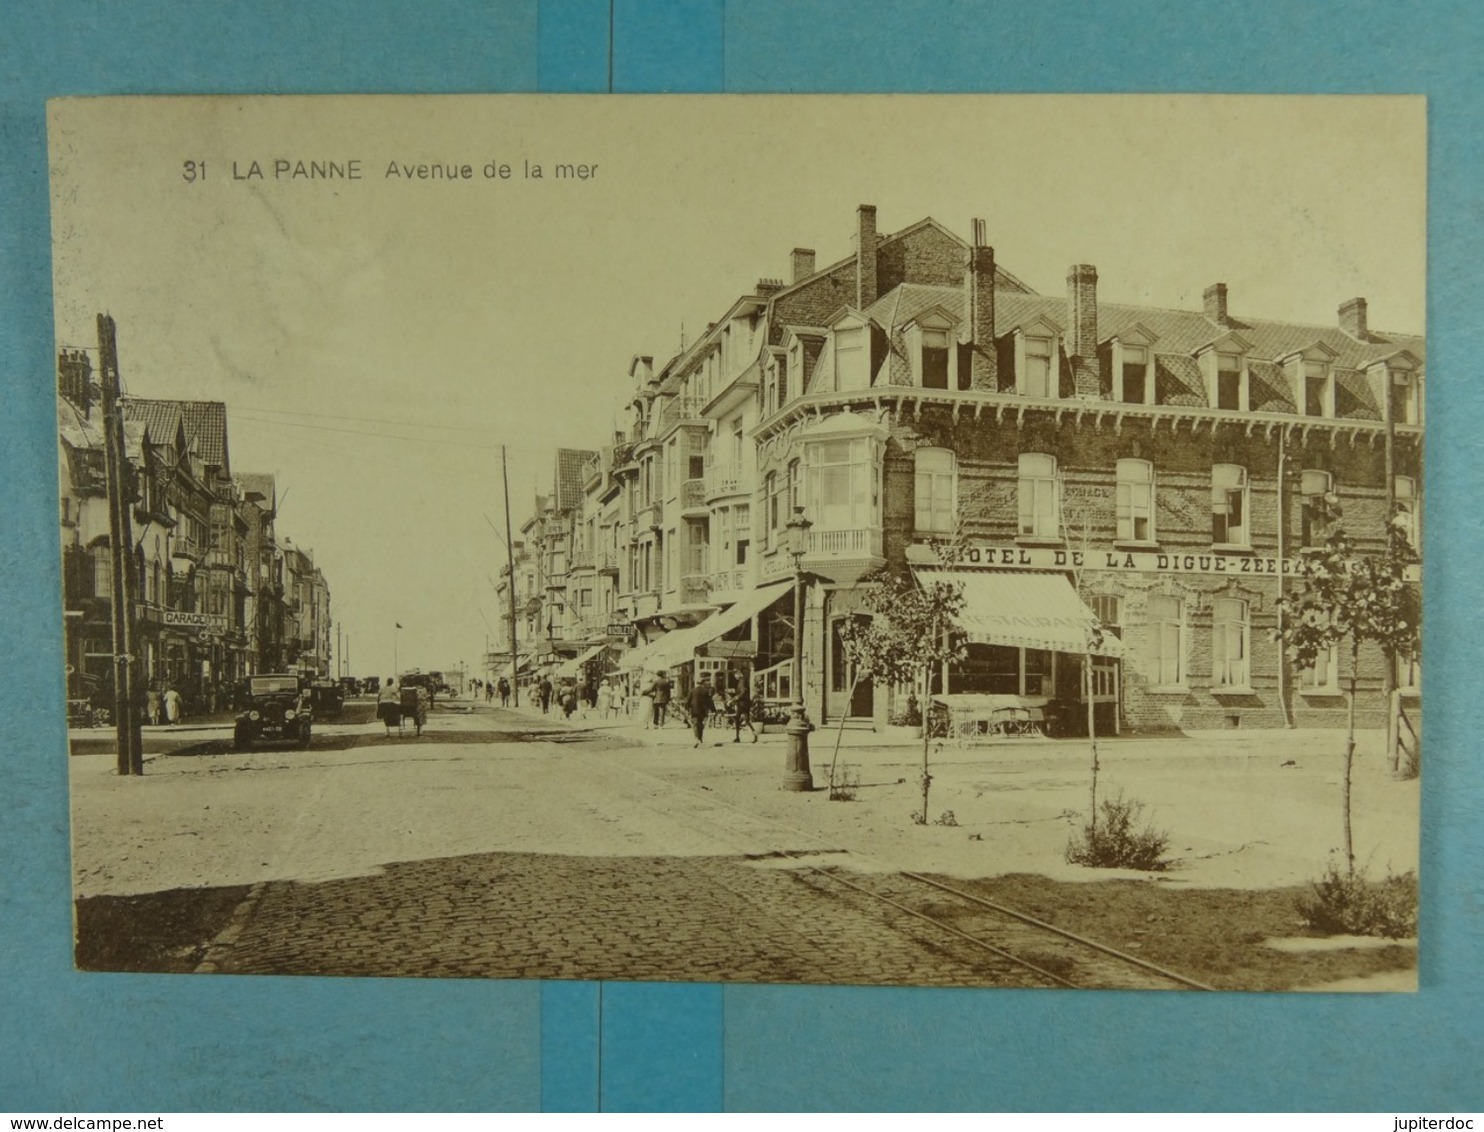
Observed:
[[[919,690],[923,705],[923,809],[917,823],[928,823],[928,792],[932,774],[928,766],[930,739],[932,672],[965,654],[956,623],[963,608],[963,586],[957,582],[919,577],[910,571],[881,570],[862,579],[870,620],[861,619],[841,628],[846,656],[856,679],[870,677],[884,684],[907,684]],[[838,743],[837,748],[838,751]],[[831,767],[831,780],[834,770]]]

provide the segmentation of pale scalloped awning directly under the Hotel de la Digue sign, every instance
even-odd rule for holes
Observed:
[[[1123,642],[1097,628],[1097,617],[1082,604],[1066,574],[919,567],[917,576],[925,582],[956,582],[963,586],[963,608],[957,622],[975,644],[1094,656],[1123,654]]]

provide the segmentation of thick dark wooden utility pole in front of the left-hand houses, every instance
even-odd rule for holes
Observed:
[[[98,316],[98,377],[102,384],[104,473],[108,481],[108,555],[113,567],[113,718],[119,736],[119,773],[144,773],[139,702],[135,694],[134,531],[125,491],[123,407],[119,404],[117,326]]]

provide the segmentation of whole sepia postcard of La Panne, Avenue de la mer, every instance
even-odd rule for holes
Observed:
[[[76,964],[1416,988],[1426,107],[49,107]]]

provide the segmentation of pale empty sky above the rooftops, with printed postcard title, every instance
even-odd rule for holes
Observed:
[[[1425,329],[1426,123],[1393,96],[101,98],[50,105],[56,335],[119,325],[128,392],[224,401],[234,472],[278,475],[359,675],[479,662],[488,579],[558,445],[608,441],[758,277],[880,231],[987,221],[1042,294]],[[359,181],[273,162],[361,163]],[[183,163],[205,162],[187,182]],[[261,180],[234,180],[257,160]],[[386,177],[470,165],[470,181]],[[488,180],[490,162],[510,166]],[[524,163],[543,180],[527,180]],[[597,165],[558,181],[555,165]],[[292,168],[292,166],[291,166]],[[52,375],[55,380],[55,375]]]

